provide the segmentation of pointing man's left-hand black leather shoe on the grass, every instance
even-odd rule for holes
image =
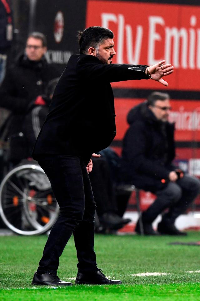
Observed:
[[[60,280],[55,271],[47,271],[47,273],[39,275],[34,273],[32,285],[53,285],[53,286],[66,286],[72,285],[71,282]]]

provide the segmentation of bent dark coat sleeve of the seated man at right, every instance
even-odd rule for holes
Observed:
[[[149,148],[148,139],[144,126],[139,122],[131,126],[125,137],[126,142],[126,159],[130,167],[156,179],[167,179],[170,170],[164,166],[156,164],[146,157],[146,150]]]

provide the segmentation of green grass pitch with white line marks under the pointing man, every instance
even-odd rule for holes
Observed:
[[[0,237],[0,300],[200,300],[200,245],[169,244],[200,241],[199,232],[187,237],[96,235],[98,267],[106,276],[122,280],[121,286],[32,287],[46,239],[46,235]],[[76,264],[71,238],[58,276],[74,283]]]

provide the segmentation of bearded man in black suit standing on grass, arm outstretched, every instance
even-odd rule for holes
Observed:
[[[78,257],[76,284],[121,284],[97,268],[94,246],[95,202],[88,177],[91,156],[109,146],[116,135],[110,82],[162,77],[173,67],[165,61],[144,65],[112,64],[113,32],[89,27],[79,36],[80,54],[70,57],[37,138],[33,158],[47,174],[60,206],[32,284],[71,285],[56,275],[59,256],[74,235]]]

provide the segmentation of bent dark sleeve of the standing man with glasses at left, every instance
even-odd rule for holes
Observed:
[[[15,113],[25,112],[29,103],[28,99],[15,95],[15,83],[12,78],[12,70],[8,69],[0,87],[0,107]]]

